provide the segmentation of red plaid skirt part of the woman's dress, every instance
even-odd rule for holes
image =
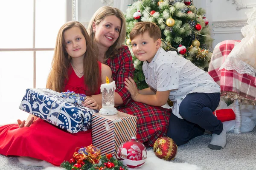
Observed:
[[[171,109],[146,105],[131,100],[118,111],[137,116],[137,140],[153,147],[154,142],[166,136]]]

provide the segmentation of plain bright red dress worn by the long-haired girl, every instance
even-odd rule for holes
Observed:
[[[101,75],[101,63],[99,62]],[[84,77],[77,77],[70,68],[70,79],[66,81],[65,91],[84,94]],[[100,88],[97,94],[99,94]],[[91,130],[69,133],[48,122],[37,119],[30,127],[19,128],[17,124],[0,127],[0,154],[29,156],[48,161],[59,166],[73,157],[76,147],[92,144]]]

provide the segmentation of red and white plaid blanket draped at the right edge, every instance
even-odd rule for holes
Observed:
[[[218,43],[212,53],[208,73],[221,87],[221,94],[231,99],[256,100],[256,77],[249,74],[239,74],[235,70],[221,69],[228,54],[238,40],[225,40]]]

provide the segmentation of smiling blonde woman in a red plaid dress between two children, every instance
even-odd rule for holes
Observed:
[[[133,77],[134,65],[125,42],[126,22],[122,12],[111,6],[99,8],[88,26],[98,60],[110,66],[116,82],[115,106],[118,111],[137,116],[137,140],[153,146],[156,139],[166,136],[170,113],[161,108],[131,100],[125,88],[125,78]],[[101,94],[93,95],[101,105]]]

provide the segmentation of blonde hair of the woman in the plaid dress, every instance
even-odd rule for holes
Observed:
[[[95,33],[93,32],[93,22],[95,22],[95,25],[99,25],[102,20],[104,20],[105,17],[115,15],[117,18],[121,20],[121,30],[118,39],[116,42],[111,45],[111,47],[108,48],[108,50],[105,53],[105,59],[108,59],[109,57],[113,57],[118,53],[118,49],[122,47],[123,42],[125,42],[125,36],[126,36],[126,20],[125,16],[122,14],[122,11],[120,11],[118,8],[113,8],[111,6],[102,6],[99,8],[94,14],[92,19],[90,20],[90,23],[88,25],[88,32],[90,35],[90,40],[93,44],[93,47],[97,53],[98,47],[95,40]],[[98,56],[98,54],[96,54]]]

